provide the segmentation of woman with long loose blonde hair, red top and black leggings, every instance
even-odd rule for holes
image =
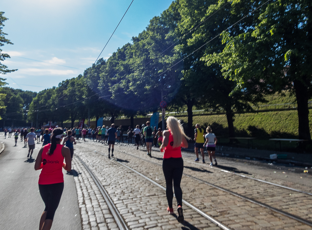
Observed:
[[[163,131],[163,143],[160,146],[160,151],[163,152],[163,174],[166,180],[166,196],[168,201],[167,212],[173,214],[173,189],[178,203],[178,222],[183,222],[182,209],[182,189],[180,187],[183,175],[183,159],[181,155],[181,147],[188,148],[186,139],[191,139],[186,136],[183,127],[175,117],[168,117],[168,130]]]

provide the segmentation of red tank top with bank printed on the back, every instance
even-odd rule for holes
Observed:
[[[62,166],[64,157],[62,156],[63,145],[57,144],[53,154],[49,156],[49,148],[51,144],[43,147],[41,154],[42,157],[42,170],[39,176],[39,185],[50,185],[64,182]]]

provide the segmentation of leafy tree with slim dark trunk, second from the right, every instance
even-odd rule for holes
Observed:
[[[191,36],[188,35],[190,38],[186,37],[187,40],[184,38],[181,45],[188,55],[191,53],[188,58],[188,61],[191,61],[189,63],[190,69],[186,70],[185,73],[191,71],[193,77],[189,79],[186,86],[192,89],[192,86],[194,87],[192,84],[193,79],[197,83],[198,91],[202,91],[200,95],[198,95],[198,92],[197,95],[192,95],[193,101],[198,108],[225,111],[229,136],[234,137],[234,111],[250,111],[252,110],[252,104],[264,102],[263,91],[256,87],[263,83],[249,76],[248,82],[243,89],[237,87],[237,81],[229,76],[232,74],[231,70],[226,75],[224,68],[222,68],[224,62],[228,60],[224,60],[225,57],[224,59],[219,58],[223,54],[226,45],[222,42],[222,37],[218,35],[222,31],[229,31],[228,33],[235,35],[248,30],[252,25],[252,20],[236,22],[242,18],[241,15],[248,14],[249,5],[251,5],[251,9],[256,6],[253,6],[253,3],[243,5],[240,2],[241,12],[240,14],[234,14],[232,8],[239,5],[237,2],[229,4],[226,1],[207,2],[198,0],[191,3],[181,0],[180,4],[182,5],[182,20],[178,24],[178,28],[182,32],[191,31]],[[236,26],[232,26],[234,22]],[[196,52],[192,53],[194,50]],[[203,67],[204,64],[206,67]],[[184,78],[186,77],[188,75],[185,75]],[[193,88],[193,91],[196,92],[196,88]],[[192,96],[188,98],[192,98]],[[191,112],[190,106],[188,106],[188,109]]]

